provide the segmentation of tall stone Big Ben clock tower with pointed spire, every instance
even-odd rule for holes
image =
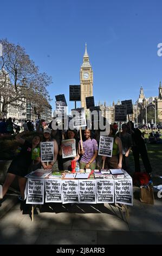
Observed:
[[[89,63],[87,44],[80,69],[81,107],[86,108],[86,97],[93,96],[93,70]]]

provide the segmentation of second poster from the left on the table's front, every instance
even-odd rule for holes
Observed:
[[[46,203],[62,203],[62,181],[54,179],[45,180]]]

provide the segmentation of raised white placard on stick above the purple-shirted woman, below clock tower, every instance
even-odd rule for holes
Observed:
[[[86,113],[85,108],[72,109],[72,116],[74,122],[74,128],[86,126]]]

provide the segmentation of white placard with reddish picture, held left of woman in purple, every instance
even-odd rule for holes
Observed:
[[[75,139],[66,139],[62,141],[62,158],[76,156]]]

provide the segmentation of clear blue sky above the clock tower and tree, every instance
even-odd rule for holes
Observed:
[[[0,9],[0,38],[19,43],[40,71],[52,76],[48,90],[54,100],[65,94],[74,107],[69,84],[80,84],[85,42],[96,103],[135,102],[140,86],[146,97],[158,95],[161,0],[8,0]]]

